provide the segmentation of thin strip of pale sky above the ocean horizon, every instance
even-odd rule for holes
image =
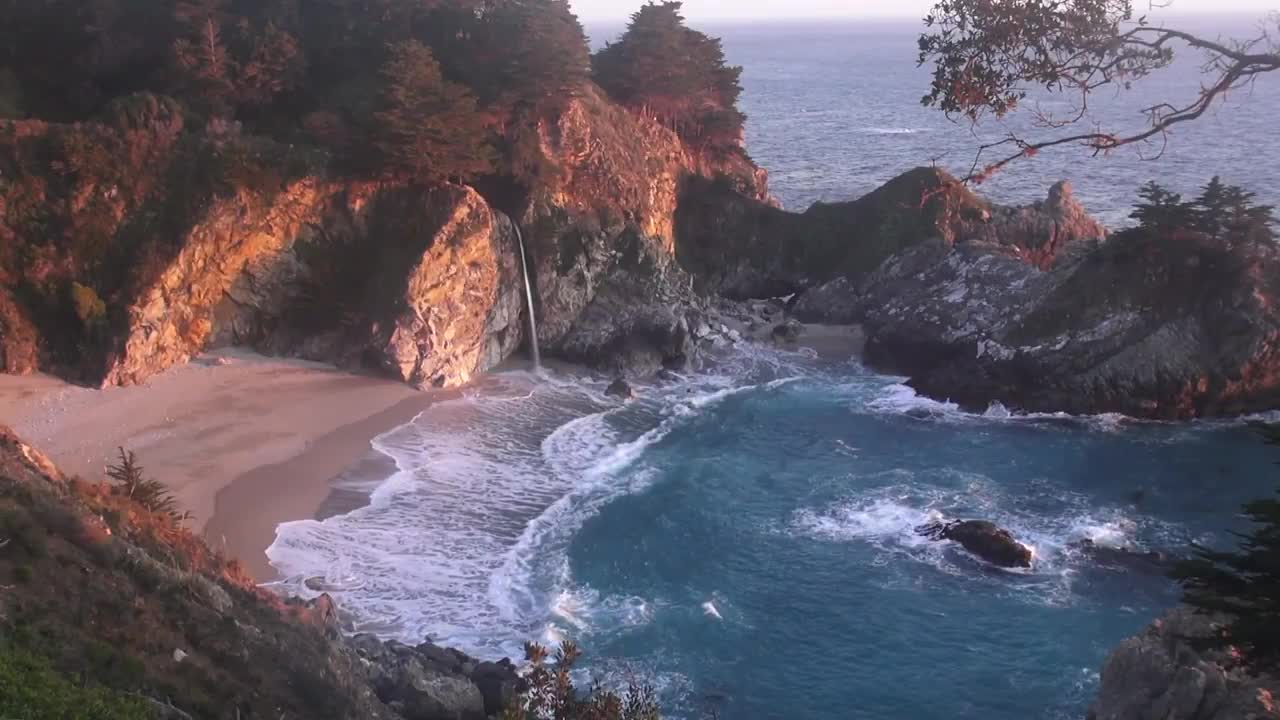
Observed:
[[[645,0],[570,0],[582,20],[623,22]],[[1142,0],[1134,3],[1142,5]],[[803,19],[878,17],[919,19],[932,6],[929,0],[685,0],[685,17],[709,19]],[[1166,13],[1256,13],[1280,10],[1280,0],[1175,0]]]

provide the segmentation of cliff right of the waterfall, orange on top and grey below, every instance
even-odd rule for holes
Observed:
[[[517,217],[534,258],[541,347],[611,373],[684,365],[705,302],[675,261],[682,190],[717,177],[735,197],[768,205],[763,172],[745,155],[694,154],[594,88],[540,137],[553,172]]]

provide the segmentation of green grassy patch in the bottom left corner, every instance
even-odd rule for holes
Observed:
[[[148,717],[138,696],[83,687],[61,675],[41,657],[0,647],[0,717],[23,720],[137,720]]]

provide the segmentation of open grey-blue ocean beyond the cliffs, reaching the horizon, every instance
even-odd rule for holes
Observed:
[[[1251,37],[1257,19],[1196,18],[1178,24],[1208,37]],[[594,42],[620,32],[588,29]],[[922,106],[929,68],[916,67],[919,24],[731,24],[704,29],[723,37],[730,61],[744,67],[748,150],[769,170],[774,195],[791,210],[819,200],[858,197],[915,165],[936,163],[964,174],[979,145],[1002,138],[1010,129],[1033,138],[1064,132],[1034,128],[1027,113],[973,128]],[[1185,55],[1129,94],[1100,91],[1089,101],[1092,117],[1107,129],[1142,129],[1142,108],[1194,99],[1199,61],[1198,54]],[[1050,149],[1009,165],[980,191],[1001,202],[1030,202],[1042,200],[1052,183],[1069,179],[1084,206],[1111,225],[1128,222],[1138,186],[1149,179],[1193,195],[1220,174],[1258,193],[1260,200],[1280,205],[1280,73],[1271,76],[1229,96],[1199,120],[1175,126],[1167,146],[1132,146],[1097,158],[1079,146]],[[1062,117],[1073,108],[1071,100],[1044,96],[1038,105]],[[1143,159],[1157,155],[1156,160]]]

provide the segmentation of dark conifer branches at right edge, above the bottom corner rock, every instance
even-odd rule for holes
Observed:
[[[1280,428],[1262,427],[1270,445],[1280,445]],[[1181,562],[1174,577],[1183,600],[1204,612],[1226,614],[1224,633],[1211,644],[1234,646],[1256,670],[1280,669],[1280,498],[1244,506],[1254,524],[1234,551],[1196,544],[1196,556]]]

